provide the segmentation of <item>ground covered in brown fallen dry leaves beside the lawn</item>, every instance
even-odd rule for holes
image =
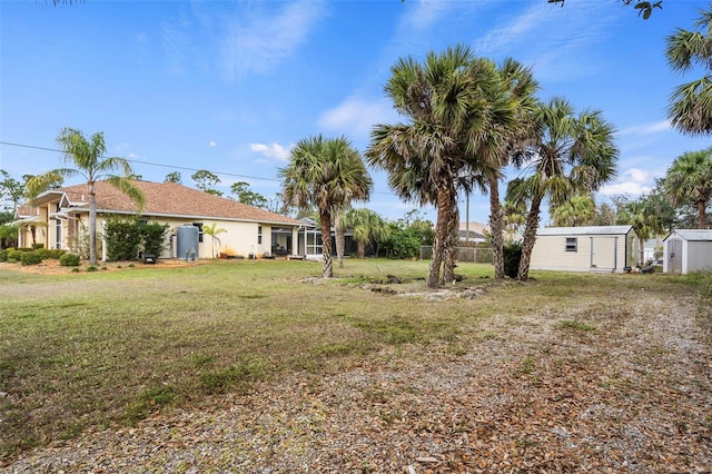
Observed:
[[[463,330],[459,352],[451,342],[389,347],[135,428],[85,433],[7,470],[710,472],[712,354],[695,305],[647,295],[494,317]],[[595,330],[562,326],[576,312]]]

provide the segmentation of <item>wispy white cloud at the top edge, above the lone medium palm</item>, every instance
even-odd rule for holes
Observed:
[[[284,61],[326,14],[320,1],[287,2],[276,14],[260,13],[240,11],[228,26],[222,56],[230,79],[236,73],[265,72]]]

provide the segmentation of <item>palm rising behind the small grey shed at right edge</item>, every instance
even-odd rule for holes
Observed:
[[[668,169],[665,189],[673,206],[693,204],[698,209],[698,228],[706,228],[706,207],[712,199],[712,147],[675,158]]]

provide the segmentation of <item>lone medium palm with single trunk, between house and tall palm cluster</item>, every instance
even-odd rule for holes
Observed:
[[[345,138],[325,139],[320,135],[301,139],[291,149],[289,165],[279,169],[285,204],[319,211],[323,276],[334,275],[332,223],[339,208],[367,200],[373,180],[358,151]]]

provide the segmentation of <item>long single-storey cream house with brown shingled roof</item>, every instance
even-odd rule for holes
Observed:
[[[195,247],[195,257],[212,258],[220,253],[235,256],[289,255],[297,251],[304,223],[230,199],[214,196],[174,182],[135,180],[145,197],[138,209],[128,196],[107,181],[96,184],[97,228],[110,217],[138,217],[170,228],[161,258],[187,258],[182,240]],[[19,245],[43,244],[46,248],[72,250],[89,221],[89,196],[86,185],[50,189],[36,199],[33,215],[20,216],[28,221],[19,235]],[[204,234],[209,226],[222,229],[211,237]],[[187,233],[190,227],[192,233]],[[30,235],[30,231],[34,235]],[[185,238],[184,238],[185,237]],[[105,260],[106,245],[101,245]]]

